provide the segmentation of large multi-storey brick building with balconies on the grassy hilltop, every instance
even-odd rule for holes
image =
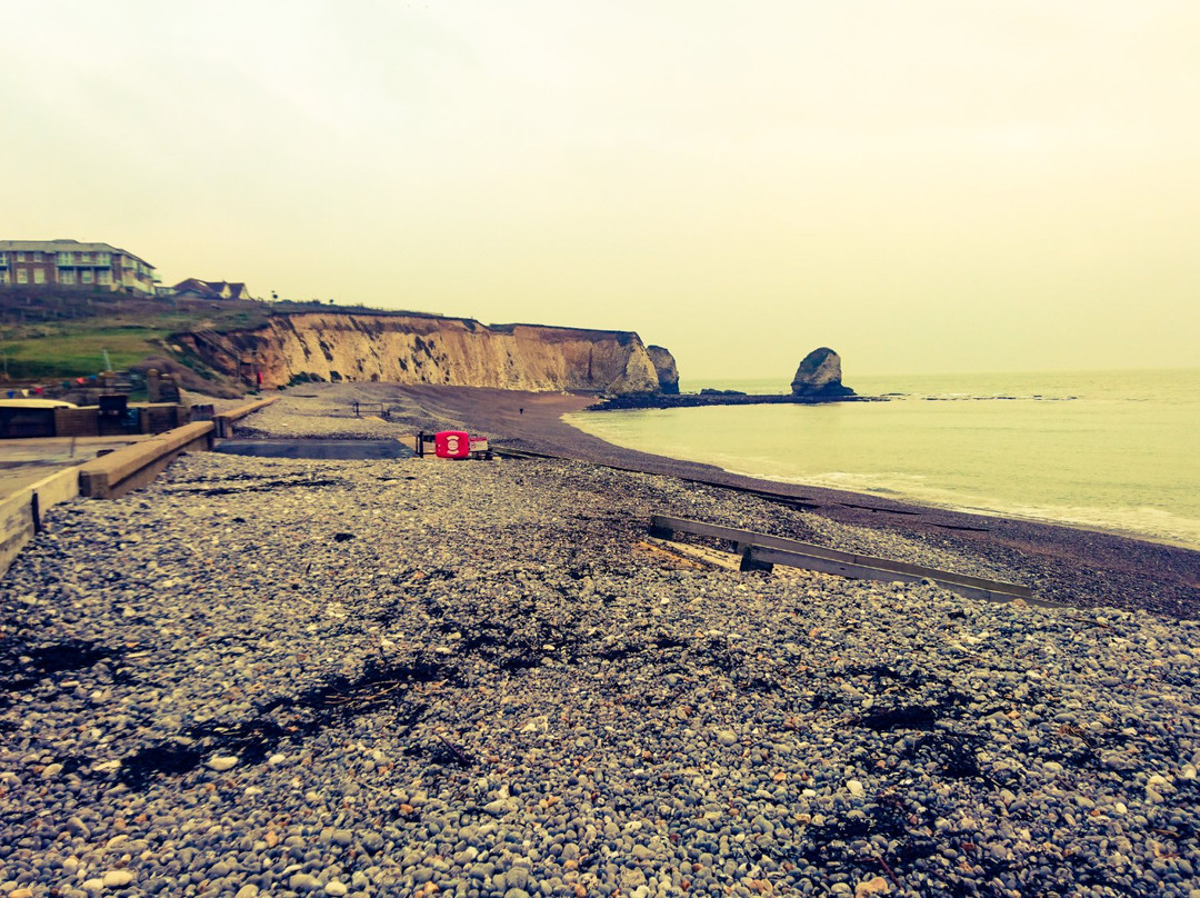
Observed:
[[[0,240],[0,286],[54,286],[154,295],[154,265],[128,250],[78,240]]]

